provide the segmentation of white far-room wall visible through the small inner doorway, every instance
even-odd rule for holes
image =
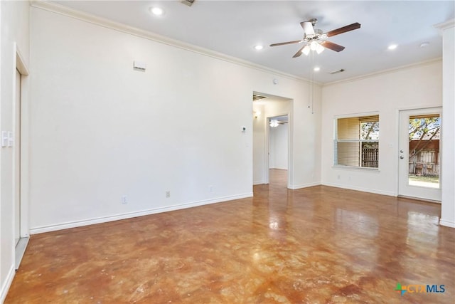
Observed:
[[[288,125],[269,127],[269,168],[287,169]]]

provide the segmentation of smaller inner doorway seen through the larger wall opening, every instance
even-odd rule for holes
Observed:
[[[268,117],[268,168],[269,184],[287,187],[289,169],[289,117],[279,115]]]

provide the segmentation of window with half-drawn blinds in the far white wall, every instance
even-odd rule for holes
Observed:
[[[335,120],[334,164],[378,168],[379,115]]]

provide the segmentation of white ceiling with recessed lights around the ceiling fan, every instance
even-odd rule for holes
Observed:
[[[301,21],[317,18],[315,28],[331,31],[358,22],[361,28],[328,38],[346,49],[314,55],[319,83],[375,73],[442,56],[442,39],[434,25],[454,19],[455,1],[208,1],[193,6],[180,1],[55,1],[73,9],[242,58],[284,73],[310,78],[310,56],[292,58]],[[149,7],[164,9],[151,16]],[[420,45],[429,42],[429,46]],[[387,46],[396,43],[395,51]],[[262,51],[253,47],[264,45]],[[343,73],[329,74],[345,69]]]

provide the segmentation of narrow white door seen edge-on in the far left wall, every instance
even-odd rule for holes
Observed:
[[[21,73],[16,70],[14,107],[14,239],[21,239]]]

